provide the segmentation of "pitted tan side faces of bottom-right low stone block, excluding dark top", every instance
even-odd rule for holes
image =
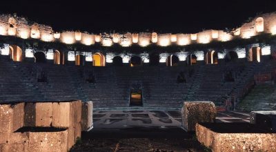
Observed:
[[[196,125],[197,140],[214,152],[276,151],[276,133],[216,133]]]

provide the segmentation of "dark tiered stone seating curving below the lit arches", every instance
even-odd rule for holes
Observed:
[[[272,70],[267,63],[230,63],[194,66],[93,67],[58,66],[0,60],[0,102],[93,101],[96,109],[180,109],[184,101],[212,101],[225,107],[226,99],[253,79],[259,70]],[[237,70],[238,67],[244,67]],[[273,66],[275,67],[275,66]],[[48,75],[48,82],[37,82],[37,70]],[[226,70],[237,73],[235,82],[225,82]],[[189,71],[193,75],[189,76]],[[238,71],[238,72],[237,72]],[[86,81],[92,72],[95,83]],[[184,72],[186,83],[177,83]],[[130,88],[139,84],[142,106],[130,106]]]

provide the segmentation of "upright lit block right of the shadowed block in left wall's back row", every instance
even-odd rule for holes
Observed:
[[[35,126],[50,127],[52,124],[52,102],[35,103]]]

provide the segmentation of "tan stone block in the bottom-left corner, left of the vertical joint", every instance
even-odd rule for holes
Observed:
[[[6,142],[0,144],[1,152],[28,151],[29,138],[26,133],[10,133]]]

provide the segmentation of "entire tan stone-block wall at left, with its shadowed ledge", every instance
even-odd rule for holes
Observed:
[[[81,101],[0,104],[0,151],[69,151],[81,126],[92,129],[92,102],[83,105],[82,111]],[[32,131],[41,127],[48,131]]]

